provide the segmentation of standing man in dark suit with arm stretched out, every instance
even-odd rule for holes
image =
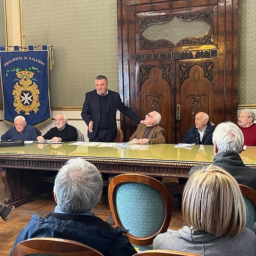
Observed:
[[[95,78],[95,89],[86,93],[83,103],[82,119],[88,125],[89,141],[113,142],[117,134],[116,111],[130,117],[136,123],[144,123],[121,101],[119,93],[108,89],[105,76]]]

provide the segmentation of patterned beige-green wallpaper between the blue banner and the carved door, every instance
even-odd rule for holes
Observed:
[[[97,75],[119,91],[116,0],[22,0],[22,17],[26,45],[53,45],[53,108],[82,106]]]

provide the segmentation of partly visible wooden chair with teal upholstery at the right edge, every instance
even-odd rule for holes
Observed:
[[[245,197],[245,203],[247,207],[246,227],[252,229],[253,223],[256,221],[256,191],[251,187],[242,184],[239,184],[239,187]]]

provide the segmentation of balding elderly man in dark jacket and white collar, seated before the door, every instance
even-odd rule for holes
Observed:
[[[215,125],[211,125],[208,114],[199,112],[195,116],[195,125],[189,128],[180,143],[212,145],[214,129]]]

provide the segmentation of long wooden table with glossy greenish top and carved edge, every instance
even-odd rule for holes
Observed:
[[[4,203],[18,206],[51,191],[57,170],[71,158],[81,157],[101,173],[187,178],[192,166],[210,163],[214,157],[211,145],[196,145],[187,150],[174,148],[174,144],[158,144],[134,150],[70,144],[0,147],[0,167],[7,195]],[[241,157],[246,165],[256,168],[256,147],[247,147]]]

